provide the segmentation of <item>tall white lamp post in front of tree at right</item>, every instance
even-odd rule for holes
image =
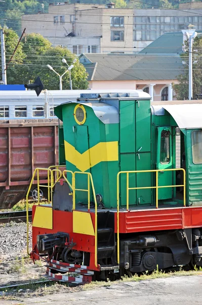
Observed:
[[[197,36],[195,29],[192,29],[193,25],[189,24],[188,29],[185,32],[185,35],[189,41],[189,100],[193,98],[193,84],[192,84],[192,46],[193,40]]]

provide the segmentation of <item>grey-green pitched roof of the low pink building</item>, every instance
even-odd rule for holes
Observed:
[[[166,80],[183,72],[179,54],[103,54],[80,55],[88,80]]]

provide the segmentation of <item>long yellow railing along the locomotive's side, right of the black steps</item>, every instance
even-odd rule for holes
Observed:
[[[158,186],[158,172],[161,171],[176,171],[182,170],[183,175],[183,185],[174,185],[174,186]],[[155,187],[139,187],[139,188],[129,188],[129,174],[130,173],[146,173],[146,172],[155,172],[156,173],[156,185]],[[120,174],[126,174],[126,209],[129,210],[129,191],[130,190],[141,190],[141,189],[156,189],[156,208],[158,208],[158,189],[160,188],[176,188],[183,187],[184,193],[184,206],[186,206],[186,177],[185,170],[183,168],[171,168],[171,169],[152,169],[152,170],[133,170],[133,171],[120,171],[117,174],[117,263],[119,264],[119,176]]]

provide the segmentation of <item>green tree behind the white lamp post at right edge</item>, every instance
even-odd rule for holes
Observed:
[[[187,51],[181,54],[181,60],[186,64],[183,65],[183,73],[178,75],[178,84],[173,85],[178,100],[188,100],[189,96],[189,52],[188,42],[185,43]],[[194,52],[197,50],[197,52]],[[202,38],[196,37],[193,42],[193,99],[196,99],[197,94],[202,94],[202,62],[200,60],[202,55]]]

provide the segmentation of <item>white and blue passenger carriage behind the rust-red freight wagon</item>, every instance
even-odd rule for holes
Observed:
[[[54,108],[62,103],[76,101],[80,94],[96,94],[98,90],[44,90],[38,97],[34,90],[1,91],[0,119],[53,118]],[[115,93],[117,90],[101,89],[99,93]],[[133,93],[137,90],[118,90]],[[139,90],[140,92],[142,90]]]

